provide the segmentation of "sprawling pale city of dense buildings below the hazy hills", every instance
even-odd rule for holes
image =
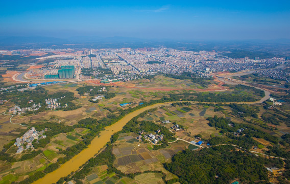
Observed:
[[[181,74],[183,72],[196,73],[201,77],[208,77],[212,72],[243,71],[274,68],[278,64],[284,63],[285,58],[255,59],[229,58],[226,52],[217,51],[181,51],[172,48],[123,48],[123,49],[95,49],[75,51],[71,49],[47,52],[57,53],[57,55],[47,56],[38,59],[56,58],[49,65],[54,65],[52,69],[57,70],[61,66],[75,66],[76,74],[81,68],[101,68],[109,69],[111,77],[121,78],[124,81],[136,79],[142,75],[154,75],[156,73]],[[59,59],[59,58],[64,59]],[[155,61],[155,62],[149,62]],[[40,69],[46,76],[57,76],[56,71],[48,68]],[[98,77],[104,74],[92,72],[92,76]],[[35,72],[35,71],[34,71]],[[289,80],[289,75],[283,70],[260,71],[269,77]],[[33,73],[33,71],[31,71]],[[33,76],[33,75],[32,75]],[[36,75],[38,76],[38,75]],[[101,75],[100,75],[101,76]],[[104,75],[102,75],[104,76]]]

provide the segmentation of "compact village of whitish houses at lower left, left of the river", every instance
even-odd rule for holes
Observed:
[[[17,137],[14,143],[14,145],[18,147],[16,153],[21,153],[23,150],[33,148],[32,142],[34,140],[45,139],[46,135],[43,135],[44,131],[45,130],[37,131],[34,127],[31,127],[31,129],[21,137]]]

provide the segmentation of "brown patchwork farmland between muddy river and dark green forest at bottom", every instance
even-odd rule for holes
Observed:
[[[167,173],[167,179],[174,178],[175,176],[168,173],[162,164],[177,152],[185,150],[188,144],[178,141],[170,144],[169,148],[152,150],[152,144],[140,144],[134,135],[120,134],[112,148],[116,157],[114,167],[126,174],[154,170]]]

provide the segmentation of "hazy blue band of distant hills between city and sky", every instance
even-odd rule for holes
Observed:
[[[69,44],[69,45],[67,45]],[[251,52],[259,56],[261,53],[268,56],[289,57],[290,39],[275,40],[174,40],[174,39],[145,39],[133,37],[99,37],[99,36],[75,36],[69,38],[55,37],[1,37],[0,50],[17,49],[41,49],[41,48],[74,48],[77,50],[105,49],[105,48],[150,48],[167,47],[185,51],[232,51],[245,54]],[[245,52],[246,51],[246,52]],[[261,57],[263,57],[261,55]]]

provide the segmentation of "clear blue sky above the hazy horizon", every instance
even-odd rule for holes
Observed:
[[[2,1],[0,36],[290,38],[290,1]]]

